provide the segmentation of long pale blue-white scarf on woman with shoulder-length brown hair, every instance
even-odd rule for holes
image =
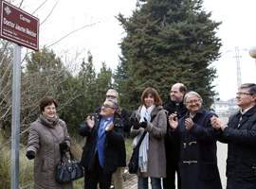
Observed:
[[[152,105],[148,109],[145,105],[142,106],[140,112],[140,120],[139,122],[144,121],[144,117],[147,119],[148,122],[151,120],[151,112],[155,109],[155,105]],[[149,151],[149,133],[145,135],[141,145],[139,146],[139,153],[138,153],[138,167],[140,172],[147,172],[148,170],[148,151]]]

